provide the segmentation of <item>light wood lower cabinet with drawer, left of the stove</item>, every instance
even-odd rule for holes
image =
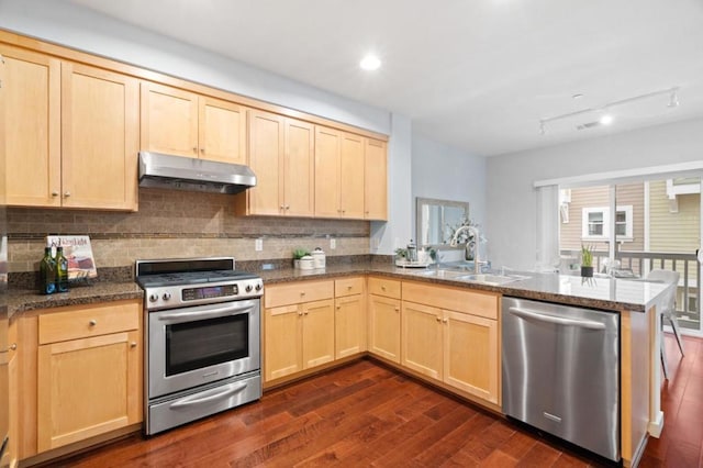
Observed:
[[[141,301],[38,317],[37,453],[142,421]]]

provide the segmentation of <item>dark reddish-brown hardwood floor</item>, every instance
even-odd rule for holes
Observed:
[[[666,426],[643,467],[703,463],[703,341],[667,336]],[[149,439],[131,436],[52,466],[571,467],[602,461],[373,360],[267,392],[260,402]]]

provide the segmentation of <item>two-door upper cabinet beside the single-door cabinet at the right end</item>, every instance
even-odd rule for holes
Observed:
[[[364,219],[364,137],[315,127],[315,216]]]

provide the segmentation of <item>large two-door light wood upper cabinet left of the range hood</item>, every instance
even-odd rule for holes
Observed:
[[[0,54],[8,204],[135,210],[137,80],[8,45]]]

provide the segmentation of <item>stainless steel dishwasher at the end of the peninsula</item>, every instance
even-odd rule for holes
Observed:
[[[617,461],[620,315],[503,298],[503,412]]]

